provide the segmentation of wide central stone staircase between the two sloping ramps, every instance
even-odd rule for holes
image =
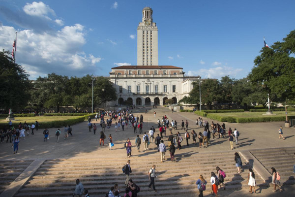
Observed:
[[[169,155],[167,152],[166,157]],[[168,159],[168,160],[167,160]],[[187,153],[176,154],[176,162],[167,158],[160,162],[160,154],[153,157],[131,157],[132,173],[130,178],[140,188],[140,197],[173,196],[196,197],[198,194],[196,181],[202,174],[207,180],[206,193],[210,192],[210,172],[216,172],[219,166],[226,172],[225,184],[228,190],[248,189],[247,174],[249,165],[243,166],[238,174],[233,153]],[[34,173],[27,184],[19,191],[17,197],[72,197],[77,178],[89,190],[91,197],[104,197],[110,188],[118,183],[119,189],[124,191],[126,177],[122,173],[122,166],[127,158],[72,158],[45,161]],[[245,160],[242,158],[242,161]],[[156,165],[157,178],[155,186],[158,193],[148,189],[148,170]],[[257,185],[267,187],[262,179],[256,176]],[[223,189],[220,189],[222,194]],[[124,192],[121,193],[121,196]]]

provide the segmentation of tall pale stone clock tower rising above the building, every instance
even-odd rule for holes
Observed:
[[[152,21],[152,9],[143,9],[142,22],[137,27],[137,65],[158,66],[158,27]]]

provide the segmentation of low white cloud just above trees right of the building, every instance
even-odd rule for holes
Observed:
[[[243,69],[242,68],[234,68],[229,66],[218,66],[213,68],[202,68],[198,71],[188,71],[188,75],[200,75],[203,78],[216,78],[220,79],[225,75],[230,75],[231,77],[236,77],[238,73],[240,73]]]

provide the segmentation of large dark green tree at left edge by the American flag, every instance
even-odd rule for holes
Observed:
[[[31,83],[29,74],[10,58],[9,51],[0,52],[0,108],[20,110],[29,101]]]

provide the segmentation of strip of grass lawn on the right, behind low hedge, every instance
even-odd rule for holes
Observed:
[[[218,116],[231,116],[234,118],[254,118],[254,117],[267,117],[268,115],[263,115],[266,112],[237,112],[237,113],[214,113]],[[273,116],[286,116],[284,111],[273,111]],[[288,116],[295,116],[295,111],[288,112]]]

